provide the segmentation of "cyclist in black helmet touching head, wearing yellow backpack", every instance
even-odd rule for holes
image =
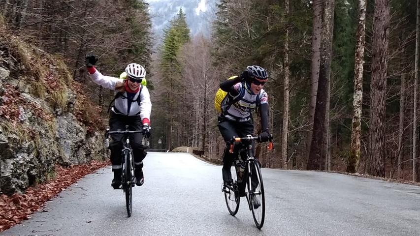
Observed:
[[[248,66],[241,75],[229,79],[220,84],[220,88],[227,92],[226,99],[222,102],[222,113],[218,117],[218,127],[222,134],[226,148],[223,156],[222,177],[224,184],[232,184],[230,167],[234,157],[238,155],[240,145],[235,145],[233,153],[229,152],[229,141],[233,136],[245,137],[253,135],[254,122],[251,112],[257,107],[260,111],[262,132],[258,135],[260,142],[269,141],[271,135],[268,131],[268,96],[263,86],[268,80],[267,71],[258,66]],[[254,144],[253,144],[254,151]],[[243,157],[242,157],[243,158]],[[257,181],[253,181],[252,188],[257,187]],[[244,195],[245,188],[243,188]],[[252,195],[254,197],[254,195]],[[258,208],[260,203],[254,199],[254,207]]]

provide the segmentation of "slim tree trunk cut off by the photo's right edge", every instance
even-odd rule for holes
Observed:
[[[419,86],[419,47],[420,47],[420,0],[417,0],[417,17],[416,17],[416,59],[414,65],[414,104],[413,104],[413,181],[418,181],[417,176],[417,102]]]

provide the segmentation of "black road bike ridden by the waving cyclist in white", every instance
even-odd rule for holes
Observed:
[[[111,134],[124,134],[124,137],[122,140],[125,140],[123,142],[123,149],[121,151],[121,156],[123,158],[122,160],[122,173],[121,173],[121,188],[123,189],[123,192],[126,195],[126,208],[127,208],[127,214],[130,217],[131,211],[132,211],[132,187],[135,183],[135,176],[134,176],[134,158],[133,158],[133,152],[130,147],[130,139],[129,134],[133,133],[143,133],[143,130],[129,130],[129,126],[126,125],[125,131],[109,131],[109,128],[106,129],[105,132],[105,139],[108,140],[109,135]],[[149,142],[145,135],[143,136],[143,140],[147,145],[145,148],[148,148]]]

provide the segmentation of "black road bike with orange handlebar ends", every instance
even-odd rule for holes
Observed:
[[[242,179],[238,178],[237,173],[242,173],[242,171],[239,170],[239,164],[241,161],[239,160],[238,156],[235,156],[235,160],[232,163],[232,167],[234,166],[234,171],[232,173],[232,185],[223,184],[222,192],[224,192],[225,194],[227,210],[231,215],[234,216],[239,209],[241,197],[240,188],[245,188],[244,184],[246,184],[247,192],[245,192],[245,197],[248,202],[248,207],[252,211],[254,223],[256,224],[258,229],[261,229],[265,219],[265,195],[264,185],[262,183],[260,164],[258,160],[254,158],[252,151],[252,141],[254,140],[258,141],[258,137],[247,135],[247,137],[244,138],[233,137],[230,141],[230,153],[233,153],[234,142],[242,143],[242,148],[240,148],[239,153],[243,153],[246,151],[246,159],[244,160],[246,166],[241,177]],[[248,147],[246,147],[246,145],[248,145]],[[245,150],[245,148],[247,150]],[[267,148],[269,150],[273,149],[272,138],[270,138],[269,145]],[[231,168],[231,172],[232,169],[233,168]],[[246,181],[245,183],[244,180]],[[260,206],[258,206],[258,201]]]

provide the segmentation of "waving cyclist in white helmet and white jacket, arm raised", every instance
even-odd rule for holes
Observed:
[[[142,79],[146,76],[143,66],[130,63],[126,67],[128,79],[104,76],[95,68],[97,58],[93,55],[86,57],[86,67],[92,80],[107,89],[118,91],[115,95],[114,106],[111,109],[109,127],[111,131],[124,130],[129,125],[130,130],[143,129],[146,137],[150,136],[150,113],[152,103],[150,102],[149,91],[141,85]],[[112,171],[114,179],[111,186],[114,189],[121,185],[123,134],[111,135],[113,142],[109,144],[111,150]],[[145,147],[141,144],[142,133],[134,133],[130,136],[130,144],[134,156],[134,176],[137,186],[143,185],[143,159],[146,156]]]

